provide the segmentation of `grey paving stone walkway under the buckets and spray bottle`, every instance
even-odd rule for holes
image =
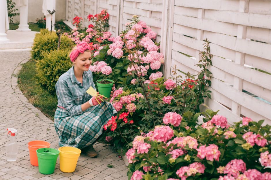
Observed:
[[[85,154],[79,157],[73,173],[63,173],[59,169],[59,158],[52,175],[42,175],[37,166],[29,161],[27,143],[44,140],[57,149],[58,137],[53,122],[28,102],[17,86],[20,64],[28,61],[29,51],[0,52],[0,180],[58,179],[58,180],[127,180],[127,167],[122,158],[112,151],[112,147],[96,143],[97,158]],[[18,130],[18,156],[16,162],[7,162],[6,143],[9,140],[6,128]],[[112,164],[113,168],[107,165]]]

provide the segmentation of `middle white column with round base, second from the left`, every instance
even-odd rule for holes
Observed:
[[[19,28],[16,31],[29,32],[29,25],[27,24],[28,16],[28,0],[20,1],[20,24]]]

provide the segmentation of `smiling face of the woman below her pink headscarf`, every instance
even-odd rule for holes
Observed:
[[[80,53],[79,56],[74,60],[74,67],[78,70],[88,71],[91,65],[91,52],[85,51]]]

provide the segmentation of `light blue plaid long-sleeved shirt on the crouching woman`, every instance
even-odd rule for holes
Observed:
[[[84,71],[83,83],[81,84],[74,75],[74,67],[71,67],[59,77],[56,83],[57,106],[65,108],[69,116],[82,114],[81,105],[92,97],[86,93],[90,86],[96,90],[92,72],[90,70]]]

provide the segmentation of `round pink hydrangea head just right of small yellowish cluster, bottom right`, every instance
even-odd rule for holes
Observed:
[[[240,172],[244,173],[246,170],[246,163],[241,159],[234,159],[228,162],[225,166],[224,174],[237,178]]]

